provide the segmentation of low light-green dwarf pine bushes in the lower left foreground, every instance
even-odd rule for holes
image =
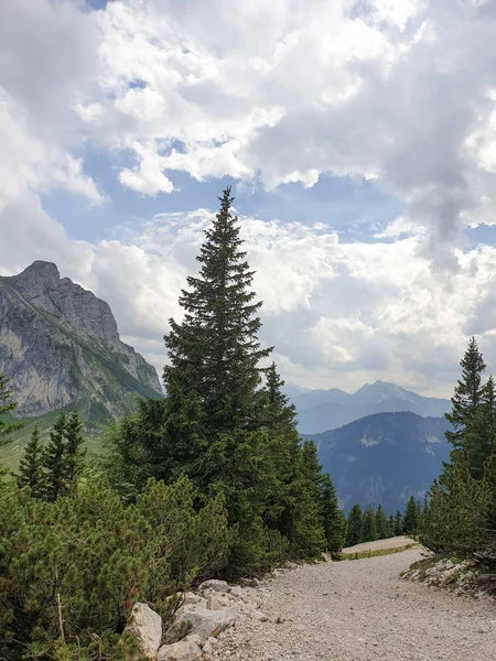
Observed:
[[[166,617],[171,595],[212,575],[231,543],[223,501],[195,509],[185,478],[150,480],[131,506],[98,478],[54,503],[7,481],[0,489],[0,651],[10,659],[21,648],[58,653],[58,599],[68,644],[115,641],[136,602]]]

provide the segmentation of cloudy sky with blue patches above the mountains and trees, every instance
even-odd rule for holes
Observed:
[[[283,378],[496,371],[496,0],[0,0],[0,273],[157,366],[233,187]]]

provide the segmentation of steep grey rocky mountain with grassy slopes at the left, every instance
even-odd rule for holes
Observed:
[[[42,261],[0,278],[0,371],[22,416],[77,403],[103,421],[162,394],[157,370],[120,340],[109,305]]]

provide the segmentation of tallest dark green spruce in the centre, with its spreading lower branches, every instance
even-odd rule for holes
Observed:
[[[227,573],[239,576],[288,555],[314,557],[326,542],[316,448],[300,444],[276,366],[261,367],[271,348],[257,337],[261,303],[231,203],[227,188],[205,232],[200,274],[182,291],[183,321],[171,319],[166,398],[140,402],[115,425],[107,465],[127,500],[148,476],[170,484],[186,475],[205,499],[222,496],[238,531]]]

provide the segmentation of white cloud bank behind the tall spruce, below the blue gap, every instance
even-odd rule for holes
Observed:
[[[98,293],[111,303],[123,334],[153,360],[165,358],[161,335],[170,316],[181,318],[180,290],[197,269],[212,217],[205,209],[161,214],[128,226],[127,245],[95,249]],[[261,339],[276,345],[288,380],[353,390],[380,378],[446,395],[467,334],[477,333],[490,354],[496,249],[459,252],[460,272],[443,283],[419,254],[418,237],[341,243],[321,226],[242,217],[240,227],[256,270],[254,289],[263,300]],[[470,319],[478,310],[487,314],[484,327],[475,328]]]

